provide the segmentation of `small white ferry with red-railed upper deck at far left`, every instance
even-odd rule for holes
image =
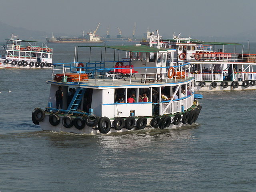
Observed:
[[[20,40],[13,35],[0,47],[0,68],[50,68],[52,48],[44,42]]]

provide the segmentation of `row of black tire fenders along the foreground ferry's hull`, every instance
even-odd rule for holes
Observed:
[[[190,111],[184,112],[183,116],[180,113],[177,113],[172,121],[172,118],[169,115],[164,115],[162,118],[160,116],[153,116],[150,125],[154,128],[164,129],[170,126],[171,123],[174,125],[178,125],[180,122],[183,124],[192,124],[196,122],[199,113],[202,109],[202,106],[198,105],[197,108],[192,109]],[[45,113],[40,108],[35,108],[32,112],[32,121],[34,124],[39,124],[40,121],[44,120]],[[60,123],[60,116],[56,113],[52,113],[49,116],[49,122],[52,126],[57,126]],[[138,129],[144,129],[147,125],[147,118],[140,117],[137,120],[136,127]],[[98,125],[98,130],[102,134],[106,134],[110,131],[111,128],[115,130],[122,130],[122,128],[126,128],[128,130],[132,130],[135,126],[136,119],[133,116],[129,116],[127,118],[116,117],[113,122],[113,127],[111,127],[111,122],[108,117],[97,117],[94,114],[86,116],[86,118],[82,118],[78,116],[73,118],[70,115],[65,115],[62,118],[62,125],[66,128],[71,128],[75,126],[78,130],[82,130],[85,127],[85,124],[89,127],[94,127]]]

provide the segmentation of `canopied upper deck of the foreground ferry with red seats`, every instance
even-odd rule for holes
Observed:
[[[88,61],[78,61],[84,58],[77,54],[74,63],[53,64],[57,67],[52,68],[52,80],[48,83],[105,89],[115,86],[175,86],[193,81],[193,78],[188,78],[188,62],[178,62],[170,70],[172,62],[167,64],[168,50],[147,46],[80,46],[78,50],[81,48],[87,48],[90,52]],[[107,49],[114,51],[114,60]],[[92,54],[95,50],[100,54]],[[85,56],[84,52],[82,55]]]

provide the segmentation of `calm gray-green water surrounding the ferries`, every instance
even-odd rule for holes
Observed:
[[[54,62],[74,61],[74,46],[50,44]],[[32,123],[50,78],[50,70],[0,69],[1,192],[255,191],[256,90],[198,92],[196,124],[178,130],[94,136]]]

